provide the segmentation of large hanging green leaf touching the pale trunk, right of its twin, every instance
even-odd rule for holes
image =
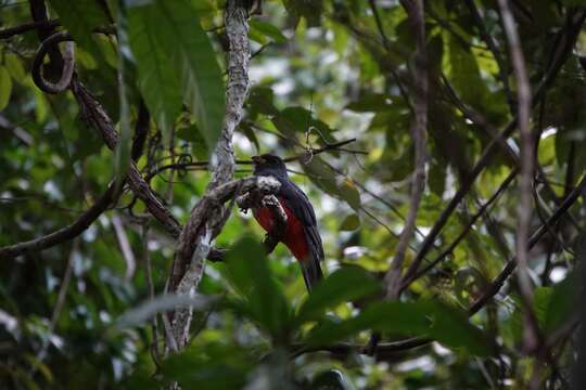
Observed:
[[[150,15],[156,15],[150,26],[155,41],[166,54],[168,66],[180,76],[183,100],[213,151],[221,132],[225,107],[216,53],[189,1],[152,0],[148,6]]]

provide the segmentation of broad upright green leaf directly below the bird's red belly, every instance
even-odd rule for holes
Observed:
[[[284,336],[290,308],[269,270],[264,246],[245,236],[228,252],[226,262],[229,281],[246,299],[245,309],[273,338]]]

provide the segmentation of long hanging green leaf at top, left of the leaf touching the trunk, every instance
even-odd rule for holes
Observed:
[[[141,3],[139,3],[141,4]],[[129,43],[138,68],[138,88],[166,140],[181,109],[181,87],[176,67],[165,52],[157,5],[128,9]]]

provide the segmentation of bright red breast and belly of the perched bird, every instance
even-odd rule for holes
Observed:
[[[309,255],[309,247],[305,237],[303,223],[293,214],[291,209],[286,207],[285,202],[280,197],[279,203],[286,213],[286,227],[282,242],[298,261],[305,261]],[[275,222],[272,220],[272,212],[268,208],[260,207],[255,209],[253,213],[264,230],[267,232],[272,231]]]

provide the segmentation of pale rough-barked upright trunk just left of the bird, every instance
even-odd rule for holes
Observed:
[[[214,202],[211,194],[227,183],[234,171],[232,135],[242,117],[249,91],[251,52],[246,6],[243,0],[228,0],[226,3],[225,25],[229,42],[226,114],[212,159],[212,181],[206,195],[191,211],[189,221],[179,236],[169,287],[171,291],[180,295],[191,295],[198,289],[212,240],[224,227],[230,212],[230,209],[226,209],[221,203]],[[235,191],[241,191],[240,186]],[[179,278],[180,282],[177,283]],[[179,349],[186,346],[191,320],[191,308],[179,308],[175,311],[173,334]]]

